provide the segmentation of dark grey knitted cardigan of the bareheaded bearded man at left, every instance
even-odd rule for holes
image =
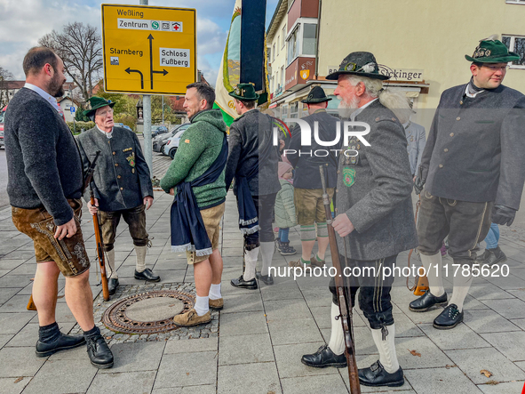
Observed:
[[[73,218],[68,198],[82,197],[82,163],[64,119],[37,92],[22,88],[5,114],[9,203],[45,207],[57,226]]]

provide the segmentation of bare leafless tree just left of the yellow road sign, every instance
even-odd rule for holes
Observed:
[[[38,44],[52,48],[64,60],[66,72],[79,86],[83,101],[87,101],[102,69],[102,45],[97,28],[82,22],[68,23],[62,33],[52,30],[40,38]]]

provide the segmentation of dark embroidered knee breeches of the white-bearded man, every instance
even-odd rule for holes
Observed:
[[[352,308],[355,305],[355,294],[359,290],[358,302],[359,308],[365,318],[370,322],[370,327],[373,329],[383,328],[394,324],[394,316],[392,316],[392,302],[390,298],[390,290],[394,283],[394,275],[389,275],[383,279],[383,268],[387,267],[394,269],[397,254],[378,260],[353,260],[346,259],[345,256],[339,254],[339,261],[341,262],[341,273],[345,281],[345,286],[350,292],[352,299]],[[349,275],[349,269],[357,274],[357,269],[361,269],[361,275]],[[366,269],[365,269],[366,268]],[[388,273],[388,271],[387,271]],[[338,303],[335,279],[330,280],[330,292],[332,293],[332,302]]]

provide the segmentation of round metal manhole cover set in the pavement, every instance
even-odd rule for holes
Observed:
[[[193,307],[194,296],[174,290],[139,293],[111,305],[102,323],[115,333],[158,334],[178,328],[173,317]]]

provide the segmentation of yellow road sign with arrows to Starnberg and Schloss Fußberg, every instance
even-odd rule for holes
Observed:
[[[197,12],[102,4],[104,90],[184,95],[197,76]]]

